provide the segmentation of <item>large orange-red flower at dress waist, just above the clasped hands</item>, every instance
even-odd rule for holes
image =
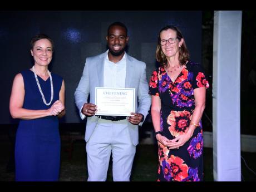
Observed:
[[[171,111],[167,118],[167,124],[170,125],[169,131],[171,135],[178,136],[188,131],[190,122],[190,112],[184,111]]]

